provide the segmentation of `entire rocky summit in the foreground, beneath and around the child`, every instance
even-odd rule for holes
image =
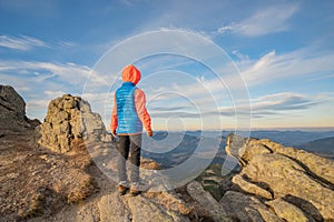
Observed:
[[[87,101],[57,98],[40,123],[13,88],[0,89],[0,222],[334,221],[333,160],[230,134],[226,152],[239,168],[229,174],[212,164],[175,190],[119,195],[108,174],[117,142]],[[143,159],[140,168],[160,164]]]

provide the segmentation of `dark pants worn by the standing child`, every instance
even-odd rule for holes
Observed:
[[[118,179],[119,181],[127,181],[126,161],[130,154],[130,181],[139,181],[139,165],[140,165],[140,150],[141,150],[141,134],[135,135],[119,135],[118,151],[120,153],[118,159]]]

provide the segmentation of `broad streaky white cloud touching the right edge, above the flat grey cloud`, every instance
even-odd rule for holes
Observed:
[[[264,82],[303,77],[304,79],[316,73],[320,78],[334,71],[334,54],[313,49],[302,49],[284,54],[275,50],[266,53],[258,60],[236,62],[242,75],[248,85],[258,85]]]

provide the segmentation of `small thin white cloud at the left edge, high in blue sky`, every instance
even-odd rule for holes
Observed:
[[[43,47],[48,48],[49,46],[36,38],[21,36],[21,37],[8,37],[0,36],[0,48],[29,51],[33,48]]]

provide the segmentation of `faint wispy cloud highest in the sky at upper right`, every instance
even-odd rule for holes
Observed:
[[[298,10],[295,4],[275,6],[262,9],[240,22],[219,27],[216,34],[234,32],[246,37],[258,37],[289,29],[288,19]]]

